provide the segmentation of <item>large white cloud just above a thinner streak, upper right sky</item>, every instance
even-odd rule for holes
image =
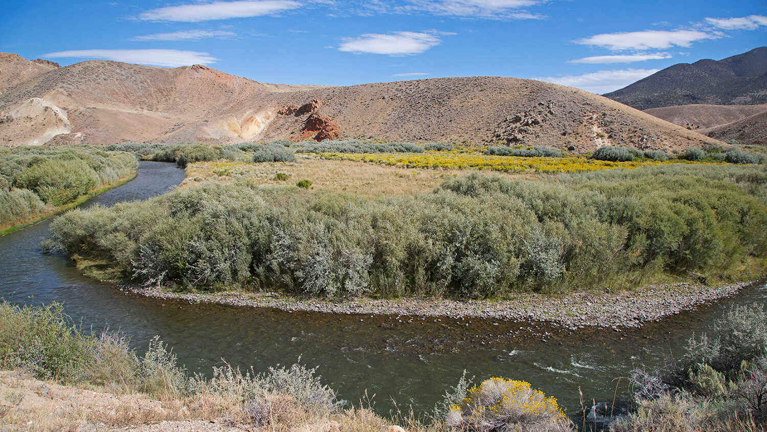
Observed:
[[[720,37],[719,35],[697,30],[646,30],[606,33],[604,35],[594,35],[590,38],[578,39],[574,42],[581,45],[596,45],[597,47],[608,48],[613,51],[622,51],[665,49],[671,48],[673,45],[689,47],[694,41]]]

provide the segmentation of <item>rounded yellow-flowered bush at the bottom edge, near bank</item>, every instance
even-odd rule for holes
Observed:
[[[570,430],[570,421],[553,396],[526,381],[489,378],[454,404],[446,424],[459,430]]]

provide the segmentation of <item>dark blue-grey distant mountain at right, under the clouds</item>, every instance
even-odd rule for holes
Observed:
[[[767,47],[719,61],[674,64],[604,96],[638,110],[689,104],[765,104]]]

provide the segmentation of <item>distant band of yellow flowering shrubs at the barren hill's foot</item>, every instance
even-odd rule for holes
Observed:
[[[357,160],[406,168],[443,168],[450,170],[495,170],[508,173],[574,173],[578,171],[639,168],[669,163],[690,163],[689,160],[632,160],[611,162],[584,157],[515,157],[488,156],[482,153],[458,151],[427,151],[425,153],[321,153],[325,159]]]

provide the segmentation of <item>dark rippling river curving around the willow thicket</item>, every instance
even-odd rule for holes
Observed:
[[[173,164],[143,161],[135,180],[85,205],[144,200],[172,190],[183,176]],[[767,302],[765,285],[752,285],[735,298],[644,328],[575,333],[532,322],[192,305],[143,298],[84,277],[65,256],[41,252],[48,224],[0,237],[0,297],[6,302],[63,302],[84,328],[123,331],[139,351],[160,335],[189,371],[203,374],[222,359],[265,371],[301,358],[345,400],[357,404],[367,391],[381,414],[395,404],[429,413],[464,370],[477,380],[529,381],[572,414],[580,407],[579,387],[585,401],[611,401],[616,378],[631,368],[679,356],[693,331],[706,331],[732,305]],[[619,397],[628,394],[626,384],[618,385]]]

